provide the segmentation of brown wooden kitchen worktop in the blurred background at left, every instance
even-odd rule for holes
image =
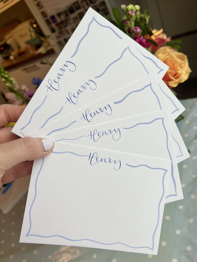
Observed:
[[[3,60],[1,62],[1,66],[3,66],[3,68],[8,71],[9,69],[13,69],[18,66],[25,65],[37,59],[42,59],[53,53],[55,53],[55,51],[52,48],[49,49],[45,54],[41,54],[41,53],[30,54],[29,52],[24,52],[24,54],[19,55],[14,60],[10,60],[10,59]]]

